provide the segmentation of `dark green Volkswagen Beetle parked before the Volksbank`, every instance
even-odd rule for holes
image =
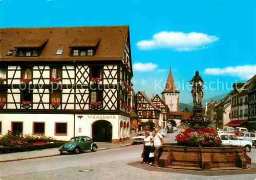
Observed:
[[[98,146],[93,142],[92,138],[88,136],[76,136],[70,139],[68,143],[65,143],[59,147],[60,155],[66,152],[80,153],[85,150],[91,150],[95,152]]]

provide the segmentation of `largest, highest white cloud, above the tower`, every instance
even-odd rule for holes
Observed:
[[[160,32],[151,40],[142,40],[137,43],[139,49],[172,48],[178,51],[201,50],[208,48],[205,45],[218,41],[219,38],[203,33]]]

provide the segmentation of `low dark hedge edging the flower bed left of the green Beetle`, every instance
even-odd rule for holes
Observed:
[[[40,145],[28,144],[28,145],[20,146],[20,147],[15,147],[15,146],[13,146],[13,147],[0,147],[0,154],[11,153],[11,152],[25,152],[25,151],[31,151],[31,150],[48,149],[48,148],[56,148],[56,147],[61,146],[64,143],[66,143],[66,141],[40,144]]]

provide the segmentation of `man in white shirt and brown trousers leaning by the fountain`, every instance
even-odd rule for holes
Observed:
[[[155,152],[154,152],[155,164],[154,164],[154,166],[159,167],[158,163],[159,163],[159,158],[161,156],[162,147],[163,147],[163,137],[159,133],[158,128],[155,128],[155,133],[156,133],[156,136],[153,139],[154,140],[154,147],[155,147]]]

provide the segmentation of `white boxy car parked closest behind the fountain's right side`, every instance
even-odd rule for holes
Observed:
[[[219,134],[222,144],[224,145],[239,145],[245,146],[246,152],[251,151],[252,142],[251,141],[243,141],[239,140],[238,137],[232,133],[223,133]]]

